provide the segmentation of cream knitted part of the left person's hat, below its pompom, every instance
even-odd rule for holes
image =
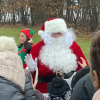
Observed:
[[[25,75],[21,58],[11,51],[0,52],[0,76],[19,85],[24,90]]]

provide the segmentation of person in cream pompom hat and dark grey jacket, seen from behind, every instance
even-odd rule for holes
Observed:
[[[25,73],[14,38],[0,37],[0,100],[26,100]]]

